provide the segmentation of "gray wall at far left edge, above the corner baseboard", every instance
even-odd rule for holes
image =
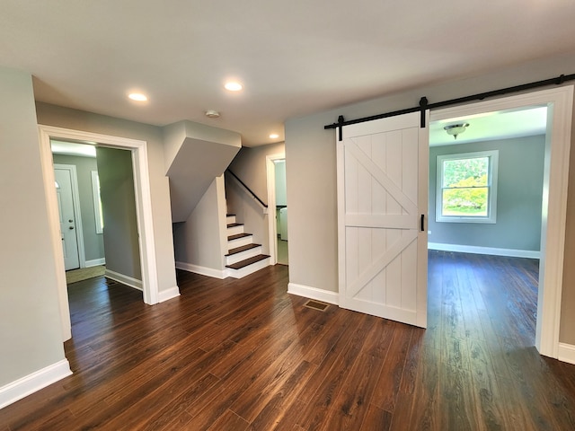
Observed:
[[[0,387],[64,360],[31,75],[0,67]]]

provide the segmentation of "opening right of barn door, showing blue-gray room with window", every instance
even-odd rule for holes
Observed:
[[[429,124],[429,315],[460,310],[456,333],[535,344],[547,134],[546,106]]]

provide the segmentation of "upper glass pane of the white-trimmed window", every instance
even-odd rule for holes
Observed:
[[[487,186],[489,157],[446,160],[443,162],[443,187]]]

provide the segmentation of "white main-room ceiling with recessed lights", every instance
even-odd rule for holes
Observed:
[[[575,51],[573,17],[572,0],[2,0],[0,66],[38,101],[261,145],[290,117]]]

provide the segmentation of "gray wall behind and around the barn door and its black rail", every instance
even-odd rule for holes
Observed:
[[[544,80],[575,71],[575,56],[548,57],[494,72],[478,71],[467,79],[444,84],[429,83],[370,101],[325,110],[286,121],[286,168],[289,202],[290,283],[338,291],[337,195],[335,130],[323,126],[338,116],[358,119],[385,111],[430,103],[473,93],[488,92]],[[575,151],[571,151],[571,165]],[[575,170],[570,171],[565,266],[562,289],[562,342],[575,344]],[[313,262],[310,263],[310,262]]]

